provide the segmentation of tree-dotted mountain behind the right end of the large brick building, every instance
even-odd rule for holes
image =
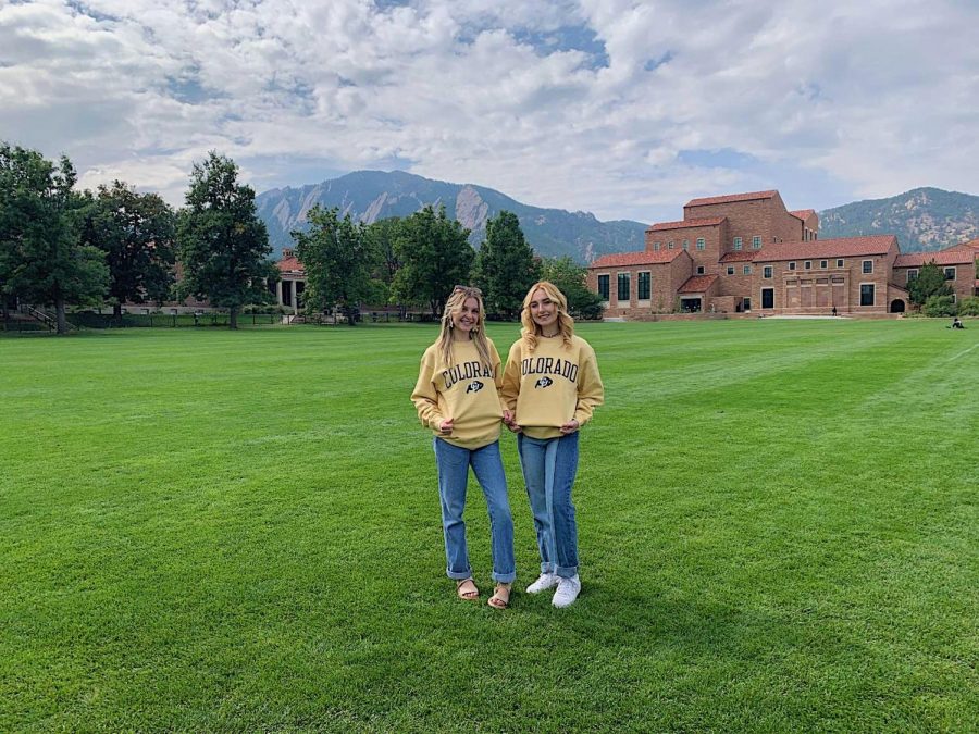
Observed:
[[[902,252],[930,252],[979,237],[979,196],[915,188],[819,212],[819,237],[897,236]]]

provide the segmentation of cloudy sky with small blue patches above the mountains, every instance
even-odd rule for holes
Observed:
[[[361,169],[602,220],[979,194],[977,0],[0,0],[0,139],[183,202]]]

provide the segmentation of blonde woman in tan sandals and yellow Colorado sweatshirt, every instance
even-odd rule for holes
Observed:
[[[499,456],[500,422],[510,422],[499,397],[501,381],[499,353],[483,331],[482,294],[479,288],[456,286],[445,304],[438,338],[422,357],[411,400],[421,422],[435,435],[446,572],[455,580],[459,597],[468,600],[480,597],[462,520],[470,466],[483,488],[496,582],[490,606],[496,609],[509,605],[517,575],[513,520]]]

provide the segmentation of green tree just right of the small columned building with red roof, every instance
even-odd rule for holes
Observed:
[[[365,227],[339,210],[313,207],[309,231],[294,231],[296,257],[306,270],[303,300],[320,311],[338,308],[347,323],[356,323],[358,304],[371,295],[371,253]]]

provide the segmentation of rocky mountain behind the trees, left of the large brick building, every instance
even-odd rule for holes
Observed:
[[[314,204],[337,207],[342,214],[370,224],[389,216],[408,216],[425,204],[444,204],[446,213],[471,231],[479,247],[486,236],[486,220],[501,210],[517,214],[528,241],[538,254],[570,254],[590,262],[600,254],[641,250],[645,224],[628,220],[599,222],[588,212],[541,209],[520,203],[492,188],[448,184],[402,171],[357,171],[322,184],[277,188],[256,197],[259,216],[269,228],[276,257],[292,247],[289,232],[308,226],[306,213]]]

